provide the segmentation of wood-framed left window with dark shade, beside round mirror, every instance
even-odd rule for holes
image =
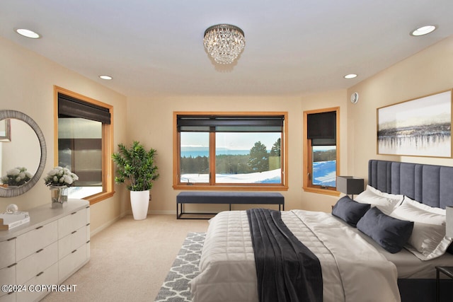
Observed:
[[[69,198],[91,204],[113,195],[113,107],[55,87],[55,165],[79,176],[69,187]]]

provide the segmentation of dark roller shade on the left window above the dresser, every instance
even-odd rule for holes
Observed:
[[[108,108],[87,103],[62,93],[58,93],[58,117],[81,117],[86,120],[110,124],[110,111]]]

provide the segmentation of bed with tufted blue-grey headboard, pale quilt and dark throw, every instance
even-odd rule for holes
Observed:
[[[453,206],[452,188],[453,167],[371,160],[366,190],[354,201],[338,199],[332,214],[263,209],[219,213],[207,230],[200,274],[190,282],[193,302],[295,301],[291,296],[295,291],[315,295],[306,301],[434,301],[435,266],[453,266],[453,255],[445,252],[452,242],[445,237],[445,207]],[[268,225],[257,222],[255,216],[284,223],[297,244],[316,255],[313,261],[319,263],[322,282],[314,277],[306,289],[293,289],[291,280],[297,286],[299,281],[294,280],[307,282],[312,274],[319,276],[307,271],[305,277],[292,277],[292,271],[305,269],[294,269],[300,262],[287,264],[286,260],[277,268],[287,270],[270,276],[268,272],[274,274],[276,269],[269,269],[269,262],[261,263],[265,251],[254,252],[260,246],[257,230]],[[379,232],[382,221],[391,231]],[[276,254],[275,250],[270,253]],[[316,267],[312,263],[307,267],[311,265]],[[280,279],[285,279],[284,284]],[[275,288],[270,281],[275,281]],[[442,280],[446,282],[450,280]],[[319,283],[321,289],[317,289]],[[275,291],[280,294],[282,286],[289,296],[270,298]],[[451,300],[452,288],[442,286],[445,301]]]

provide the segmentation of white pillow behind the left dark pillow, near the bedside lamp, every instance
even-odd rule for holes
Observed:
[[[367,185],[367,190],[358,194],[354,200],[362,204],[371,204],[372,207],[377,207],[384,214],[389,215],[398,204],[401,204],[403,195],[384,193]]]

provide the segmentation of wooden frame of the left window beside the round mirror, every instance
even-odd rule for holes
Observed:
[[[98,105],[103,108],[107,108],[110,112],[110,124],[102,124],[102,187],[103,190],[100,193],[93,194],[84,199],[88,200],[91,204],[101,202],[104,199],[113,197],[115,191],[114,179],[113,179],[113,161],[111,160],[111,154],[113,153],[113,106],[103,103],[93,98],[88,98],[85,95],[69,91],[59,86],[54,86],[54,166],[58,165],[58,93],[69,95],[73,98],[83,100],[86,103]]]

